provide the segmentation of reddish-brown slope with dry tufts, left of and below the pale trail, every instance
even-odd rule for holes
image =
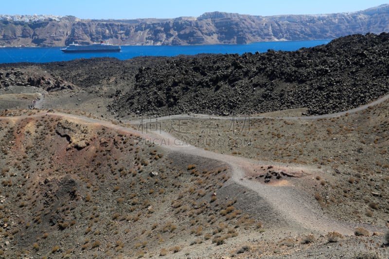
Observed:
[[[230,223],[212,216],[230,202],[211,201],[229,179],[226,165],[202,159],[191,173],[198,158],[146,144],[114,124],[25,115],[0,120],[1,258],[173,254],[212,233],[212,225],[223,223],[220,232],[227,232],[243,216]],[[254,228],[258,220],[248,222],[242,226]]]

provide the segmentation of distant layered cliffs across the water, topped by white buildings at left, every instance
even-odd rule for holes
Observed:
[[[0,46],[65,46],[107,40],[119,45],[245,44],[310,40],[389,31],[389,4],[354,13],[250,16],[205,13],[200,17],[136,20],[0,21]]]

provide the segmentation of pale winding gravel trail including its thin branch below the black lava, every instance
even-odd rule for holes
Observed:
[[[384,96],[377,101],[363,105],[361,107],[336,113],[336,114],[326,114],[321,116],[311,116],[311,117],[283,117],[278,119],[289,119],[289,120],[314,120],[314,119],[322,119],[322,118],[332,118],[341,115],[345,115],[346,113],[355,113],[358,111],[362,111],[367,109],[369,106],[380,104],[389,99],[389,95]],[[204,157],[207,159],[213,159],[217,161],[221,161],[227,165],[229,165],[231,169],[231,180],[238,185],[244,186],[249,190],[255,191],[262,199],[264,199],[275,211],[279,212],[280,218],[278,220],[288,221],[290,224],[298,224],[302,228],[307,229],[309,231],[317,231],[320,233],[327,233],[329,231],[337,231],[344,235],[353,235],[356,224],[340,222],[334,219],[329,218],[327,215],[323,213],[323,210],[319,207],[318,202],[311,196],[303,193],[303,191],[298,190],[293,186],[271,186],[265,185],[256,181],[253,181],[247,177],[247,174],[252,172],[255,169],[260,170],[261,166],[269,165],[269,161],[258,161],[252,160],[249,158],[232,156],[232,155],[223,155],[219,153],[214,153],[211,151],[206,151],[195,146],[189,145],[187,143],[182,142],[181,140],[169,135],[163,131],[156,132],[140,132],[138,130],[134,130],[132,128],[123,127],[117,124],[113,124],[109,121],[101,121],[98,119],[92,119],[88,117],[71,115],[66,113],[47,113],[47,112],[38,112],[35,117],[41,117],[42,115],[47,114],[48,116],[54,115],[62,118],[69,118],[75,121],[92,123],[95,125],[106,126],[115,130],[119,130],[128,134],[133,134],[140,136],[142,138],[147,139],[148,141],[152,141],[156,145],[159,145],[163,148],[166,148],[173,152],[179,152],[181,154],[193,155],[197,157]],[[11,117],[13,119],[17,118],[25,118],[27,115]],[[31,116],[30,116],[31,117]],[[190,117],[190,116],[189,116]],[[172,118],[180,118],[178,116],[172,117],[163,117],[163,118],[155,118],[153,120],[168,120]],[[181,118],[188,118],[181,115]],[[198,118],[192,116],[191,118]],[[209,118],[209,117],[207,117]],[[220,118],[220,119],[232,119],[234,117],[211,117],[211,118]],[[237,117],[239,118],[239,117]],[[234,119],[237,119],[234,118]],[[251,117],[251,118],[265,118],[265,117]],[[268,118],[268,117],[267,117]],[[0,119],[10,119],[10,117],[3,117]],[[142,123],[142,121],[131,121],[133,124]],[[150,122],[150,121],[147,121]],[[151,121],[152,122],[152,121]],[[272,163],[273,164],[273,163]],[[292,167],[288,164],[274,163],[276,166],[285,168],[287,170],[294,171],[303,171],[304,173],[310,173],[314,171],[314,168],[309,166],[303,167]],[[315,169],[317,172],[318,169]],[[358,225],[360,226],[360,224]],[[370,231],[382,231],[381,227],[376,227],[373,225],[366,226]]]

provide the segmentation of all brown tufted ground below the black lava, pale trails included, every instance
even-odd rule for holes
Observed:
[[[388,258],[388,100],[140,124],[106,108],[125,80],[76,72],[1,89],[0,257]]]

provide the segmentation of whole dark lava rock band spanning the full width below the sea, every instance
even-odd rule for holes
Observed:
[[[333,113],[389,92],[389,34],[351,35],[296,52],[0,64],[0,88],[6,86],[84,91],[123,117]]]

